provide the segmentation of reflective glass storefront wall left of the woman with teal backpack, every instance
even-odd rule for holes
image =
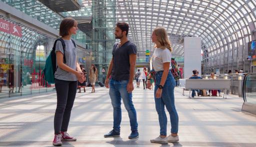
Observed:
[[[15,28],[0,30],[0,98],[52,91],[54,84],[47,84],[41,71],[54,39],[4,17],[0,21]]]

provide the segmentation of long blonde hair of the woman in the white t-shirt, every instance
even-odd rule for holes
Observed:
[[[170,52],[172,51],[170,41],[168,40],[167,31],[163,27],[156,27],[153,29],[153,32],[157,36],[157,41],[161,46],[157,46],[159,48],[167,48]],[[156,44],[154,45],[156,47]]]

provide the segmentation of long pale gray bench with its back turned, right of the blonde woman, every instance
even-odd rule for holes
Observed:
[[[223,98],[226,99],[226,90],[230,89],[230,79],[186,79],[185,89],[189,89],[189,98],[191,90],[224,90]]]

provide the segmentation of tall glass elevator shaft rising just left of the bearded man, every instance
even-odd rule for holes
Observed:
[[[92,1],[92,62],[98,69],[98,80],[104,82],[115,41],[115,0]],[[104,69],[104,70],[103,70]],[[103,71],[103,72],[102,72]]]

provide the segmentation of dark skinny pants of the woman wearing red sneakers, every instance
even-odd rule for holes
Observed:
[[[76,94],[77,81],[55,79],[57,108],[54,116],[54,133],[66,132]]]

